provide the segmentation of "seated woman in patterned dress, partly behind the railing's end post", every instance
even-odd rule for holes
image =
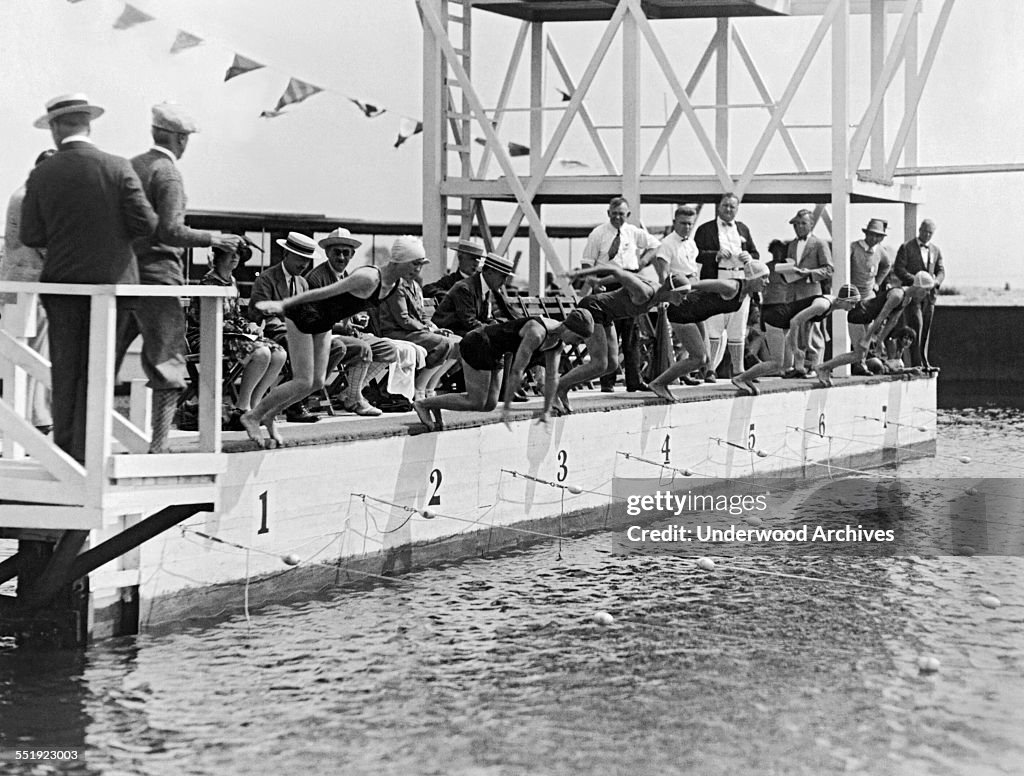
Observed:
[[[242,250],[249,251],[245,244],[242,245]],[[233,272],[239,262],[238,251],[214,248],[210,271],[200,281],[200,286],[230,286],[237,290]],[[189,349],[198,352],[199,305],[196,300],[193,301],[188,318]],[[224,299],[223,332],[224,356],[232,363],[245,365],[238,399],[224,422],[224,430],[245,431],[240,418],[274,386],[288,354],[276,342],[263,337],[260,328],[246,317],[240,309],[238,296]]]

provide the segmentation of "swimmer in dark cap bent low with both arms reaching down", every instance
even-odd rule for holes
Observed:
[[[543,423],[551,414],[558,388],[558,361],[562,346],[579,345],[593,335],[594,318],[589,311],[581,309],[572,310],[561,322],[538,316],[478,327],[462,339],[466,392],[417,399],[413,407],[420,423],[431,431],[442,428],[441,409],[489,413],[498,406],[505,354],[514,353],[502,420],[505,421],[509,413],[512,396],[519,390],[523,373],[529,367],[543,363],[544,408],[537,416]]]

